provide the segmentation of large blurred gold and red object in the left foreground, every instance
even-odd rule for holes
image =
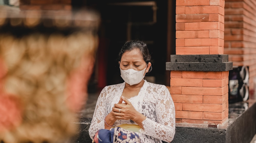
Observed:
[[[86,103],[98,13],[0,6],[0,142],[69,142]]]

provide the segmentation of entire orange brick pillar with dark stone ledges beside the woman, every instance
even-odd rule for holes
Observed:
[[[228,120],[228,70],[223,54],[223,0],[176,0],[176,54],[166,63],[176,123]]]

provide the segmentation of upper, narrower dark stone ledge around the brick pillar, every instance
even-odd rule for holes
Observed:
[[[171,55],[170,62],[225,63],[228,62],[228,55]]]

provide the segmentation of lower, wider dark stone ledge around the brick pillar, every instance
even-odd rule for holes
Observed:
[[[232,69],[233,69],[232,62],[224,62],[224,63],[166,62],[166,70],[229,71]]]

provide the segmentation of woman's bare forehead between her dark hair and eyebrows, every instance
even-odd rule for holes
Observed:
[[[139,49],[135,48],[131,51],[126,51],[123,53],[121,61],[124,60],[132,60],[132,59],[136,59],[136,60],[143,60],[143,56],[142,53]]]

